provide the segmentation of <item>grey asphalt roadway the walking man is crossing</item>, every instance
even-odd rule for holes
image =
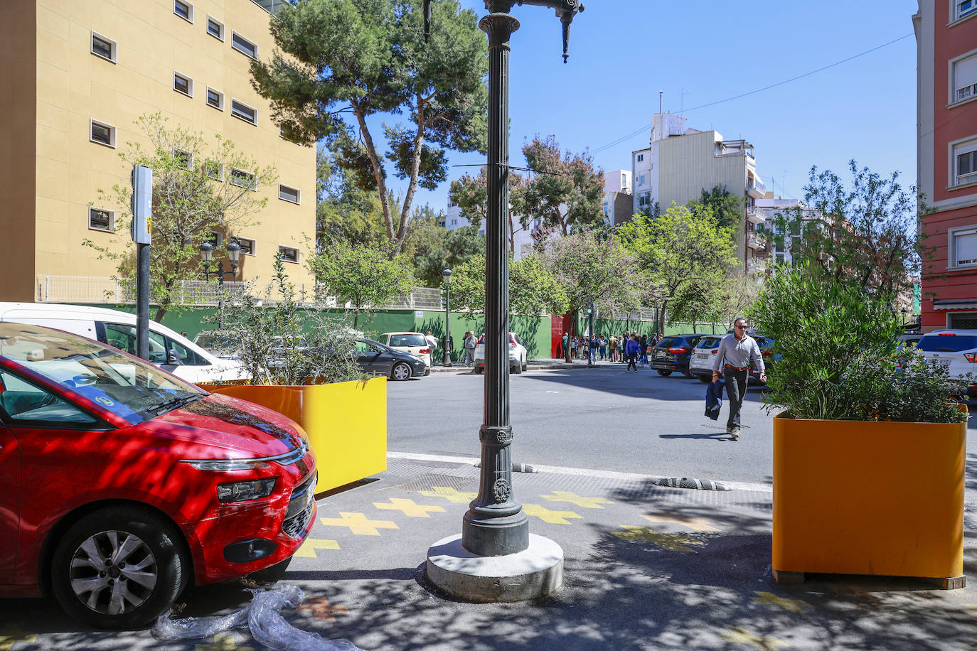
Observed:
[[[709,420],[705,386],[677,374],[610,365],[529,371],[510,383],[514,463],[771,482],[773,415],[763,408],[762,387],[748,389],[743,435],[733,441],[727,405],[719,421]],[[388,383],[388,449],[477,458],[483,387],[484,376],[467,373]],[[977,449],[973,417],[969,432]]]

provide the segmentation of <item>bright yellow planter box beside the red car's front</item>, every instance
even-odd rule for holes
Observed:
[[[319,464],[316,492],[387,469],[387,379],[313,387],[205,386],[274,409],[309,434]]]

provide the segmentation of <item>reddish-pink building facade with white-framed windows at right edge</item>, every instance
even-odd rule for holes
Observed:
[[[977,328],[977,0],[918,0],[916,178],[922,331]]]

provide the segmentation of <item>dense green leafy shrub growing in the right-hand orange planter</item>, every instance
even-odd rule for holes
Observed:
[[[749,310],[757,331],[776,342],[767,411],[816,420],[966,420],[954,402],[964,383],[898,345],[892,305],[891,295],[865,294],[807,264],[774,273]]]

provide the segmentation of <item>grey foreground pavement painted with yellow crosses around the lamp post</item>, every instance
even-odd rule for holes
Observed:
[[[439,594],[424,575],[428,547],[460,532],[478,490],[472,461],[391,453],[386,472],[321,496],[318,522],[284,579],[307,600],[284,617],[370,650],[965,649],[977,639],[973,490],[967,588],[843,576],[779,586],[769,486],[687,490],[599,470],[516,472],[531,532],[564,550],[564,587],[528,603],[473,604]],[[201,588],[185,614],[227,612],[248,598],[236,585]],[[246,630],[180,643],[148,631],[79,632],[50,601],[10,600],[3,612],[0,649],[258,648]]]

